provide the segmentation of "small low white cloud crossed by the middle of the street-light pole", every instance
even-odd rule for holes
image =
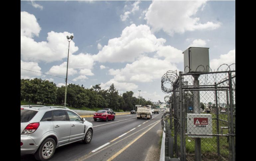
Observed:
[[[61,65],[52,66],[51,69],[46,74],[66,76],[66,70],[67,70],[67,62],[65,61]],[[68,67],[68,72],[67,72],[68,76],[74,75],[76,73],[77,73],[76,70]]]

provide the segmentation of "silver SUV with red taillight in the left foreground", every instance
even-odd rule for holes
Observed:
[[[90,143],[92,133],[92,123],[68,108],[21,108],[21,155],[35,154],[37,160],[49,160],[60,146]]]

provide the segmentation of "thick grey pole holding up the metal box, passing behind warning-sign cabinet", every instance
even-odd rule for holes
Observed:
[[[192,75],[194,77],[193,87],[199,88],[199,75]],[[193,113],[200,114],[200,91],[193,91]],[[201,161],[201,138],[195,137],[195,161]]]

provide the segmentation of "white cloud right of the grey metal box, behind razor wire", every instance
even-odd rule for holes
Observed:
[[[218,67],[222,64],[231,65],[235,63],[235,49],[230,50],[227,54],[221,54],[218,59],[212,59],[210,60],[210,68],[212,70],[215,69],[215,71],[218,69]],[[222,65],[219,69],[226,70],[228,66]],[[235,66],[232,65],[231,70],[235,69]]]

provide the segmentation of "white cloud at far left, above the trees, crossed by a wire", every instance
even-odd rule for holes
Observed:
[[[38,65],[38,63],[36,62],[25,62],[20,60],[20,66],[21,66],[21,70],[20,70],[20,75],[21,75],[21,79],[33,79],[34,77],[37,76],[41,76],[42,73],[41,72],[41,68]],[[24,70],[26,69],[26,70]],[[28,71],[30,70],[30,71]],[[35,72],[31,72],[31,71],[35,71]],[[38,72],[38,73],[36,73]]]

